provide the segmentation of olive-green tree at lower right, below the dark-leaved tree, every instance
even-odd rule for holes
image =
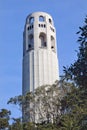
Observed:
[[[87,98],[85,98],[84,92],[73,87],[71,92],[67,93],[61,100],[61,104],[62,116],[60,122],[62,127],[67,128],[69,126],[69,128],[75,130],[86,130],[86,123],[84,124],[85,129],[82,129],[87,118]]]

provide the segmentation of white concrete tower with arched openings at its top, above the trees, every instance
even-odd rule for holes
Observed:
[[[26,18],[23,33],[23,95],[58,79],[53,19],[45,12],[32,13]]]

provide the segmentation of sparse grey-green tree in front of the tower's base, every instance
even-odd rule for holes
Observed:
[[[20,95],[10,98],[8,103],[19,105],[23,108],[25,114],[24,129],[28,127],[32,129],[32,123],[29,122],[34,122],[38,129],[42,129],[45,126],[45,129],[48,129],[50,125],[52,129],[56,129],[61,117],[61,99],[67,91],[70,91],[70,87],[70,83],[62,83],[61,80],[53,85],[38,87],[34,92],[29,92],[24,96]],[[29,120],[30,115],[31,120]],[[33,120],[35,116],[38,117],[37,122]]]

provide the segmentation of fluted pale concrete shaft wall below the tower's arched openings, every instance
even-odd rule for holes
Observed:
[[[23,61],[23,93],[58,80],[57,55],[46,49],[31,51]]]

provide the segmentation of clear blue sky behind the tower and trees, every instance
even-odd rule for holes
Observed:
[[[20,113],[6,102],[22,91],[23,29],[27,15],[36,11],[54,19],[61,75],[76,59],[76,32],[87,15],[87,0],[0,0],[0,109],[13,110],[13,116]]]

